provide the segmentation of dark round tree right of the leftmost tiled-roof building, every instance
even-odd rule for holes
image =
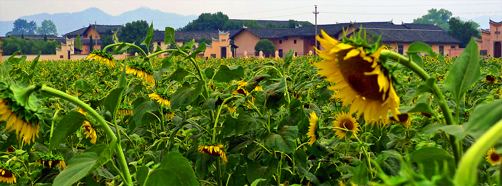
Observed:
[[[119,39],[121,39],[124,42],[127,43],[135,43],[136,45],[140,46],[141,49],[143,49],[145,52],[148,52],[147,48],[145,45],[140,45],[145,40],[145,37],[147,36],[148,29],[150,29],[150,25],[148,24],[147,21],[144,20],[138,20],[138,21],[133,21],[130,23],[126,23],[124,27],[122,27],[122,32],[120,33],[120,36],[118,36]],[[153,50],[153,39],[150,41],[150,51]],[[129,48],[127,50],[128,53],[135,53],[135,52],[140,52],[136,48]]]

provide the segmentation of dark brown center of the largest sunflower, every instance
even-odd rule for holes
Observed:
[[[371,100],[382,100],[383,92],[380,92],[378,86],[378,75],[364,75],[374,69],[372,63],[364,60],[360,55],[356,55],[343,60],[343,57],[350,50],[340,51],[338,53],[338,66],[349,86],[360,96]],[[387,96],[386,96],[387,97]]]

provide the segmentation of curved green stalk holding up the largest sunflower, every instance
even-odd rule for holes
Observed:
[[[401,54],[396,53],[394,51],[390,51],[390,50],[382,50],[381,54],[384,56],[387,56],[389,59],[397,61],[399,64],[412,70],[420,78],[422,78],[422,80],[424,80],[424,81],[431,78],[424,71],[424,69],[422,69],[416,63],[414,63],[408,57],[402,56]],[[446,121],[446,125],[457,125],[457,123],[454,122],[453,116],[452,116],[451,111],[448,107],[448,103],[446,102],[446,99],[444,98],[443,93],[441,93],[441,90],[439,90],[439,87],[436,84],[434,84],[431,88],[432,88],[432,94],[436,98],[436,101],[438,102],[439,107],[442,110],[444,120]],[[446,134],[446,136],[449,136],[449,135]],[[450,139],[449,142],[451,144],[453,156],[455,157],[455,165],[458,165],[460,159],[462,158],[462,152],[461,152],[462,141],[459,140],[459,142],[457,142],[457,138],[455,138],[454,136],[449,136],[449,139]]]

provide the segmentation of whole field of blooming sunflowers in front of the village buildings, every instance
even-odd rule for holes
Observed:
[[[15,53],[0,64],[0,185],[501,184],[500,58],[322,33],[326,50],[284,58],[205,59],[194,41],[120,60],[104,51],[140,47]]]

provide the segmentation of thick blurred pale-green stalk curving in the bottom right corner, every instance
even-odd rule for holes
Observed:
[[[477,184],[476,168],[483,160],[486,152],[502,139],[502,119],[498,120],[483,136],[481,136],[474,145],[472,145],[459,163],[454,183],[456,185],[475,185]]]

